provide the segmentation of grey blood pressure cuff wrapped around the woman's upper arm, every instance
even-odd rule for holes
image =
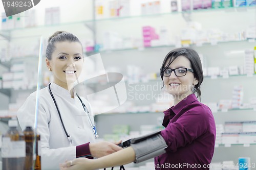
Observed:
[[[136,155],[134,163],[140,163],[166,152],[167,144],[159,133],[160,131],[131,139],[131,147]]]

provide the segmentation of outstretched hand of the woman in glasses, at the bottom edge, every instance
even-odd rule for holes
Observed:
[[[60,170],[93,170],[92,159],[77,158],[59,165]]]

